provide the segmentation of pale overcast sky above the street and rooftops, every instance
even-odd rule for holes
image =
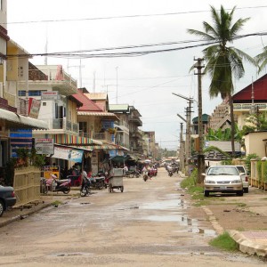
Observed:
[[[237,7],[234,21],[250,17],[241,35],[267,32],[266,0],[8,0],[7,29],[13,41],[28,53],[72,53],[86,51],[83,58],[48,57],[48,64],[61,64],[89,92],[108,92],[109,103],[134,105],[142,114],[142,130],[155,131],[162,148],[176,150],[180,136],[180,114],[187,102],[173,93],[198,99],[197,76],[190,72],[194,58],[205,46],[189,48],[198,37],[187,28],[203,30],[211,22],[210,5],[219,9]],[[16,22],[16,23],[15,23]],[[166,44],[168,43],[168,44]],[[175,43],[175,44],[169,44]],[[162,44],[144,46],[144,44]],[[163,45],[164,44],[164,45]],[[267,45],[266,36],[250,36],[234,46],[255,56]],[[125,46],[141,46],[122,49]],[[117,50],[103,50],[118,48]],[[134,52],[183,48],[170,52],[133,56]],[[98,52],[88,52],[90,50]],[[88,54],[101,57],[89,57]],[[103,57],[104,53],[132,53],[128,57]],[[44,56],[30,60],[44,64]],[[79,67],[80,66],[80,67]],[[235,92],[257,78],[247,64],[246,76],[235,82]],[[81,70],[81,71],[80,71]],[[266,70],[258,77],[263,76]],[[95,81],[95,83],[93,83]],[[210,100],[209,78],[202,78],[203,113],[211,114],[220,98]],[[194,103],[192,117],[198,116]],[[185,125],[184,125],[185,129]]]

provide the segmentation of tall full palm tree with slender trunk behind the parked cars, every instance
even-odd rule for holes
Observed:
[[[239,79],[244,76],[243,60],[255,64],[255,60],[247,53],[233,46],[227,46],[228,43],[233,43],[240,29],[249,20],[247,18],[233,22],[234,11],[235,7],[231,12],[226,12],[223,5],[221,5],[221,11],[216,12],[214,7],[211,6],[213,25],[203,21],[205,32],[188,29],[190,34],[200,36],[203,40],[214,43],[203,50],[206,61],[204,72],[211,77],[211,84],[209,85],[210,97],[214,98],[220,94],[223,100],[227,99],[229,101],[231,113],[231,150],[233,156],[235,155],[235,123],[231,98],[232,93],[234,93],[233,77]]]

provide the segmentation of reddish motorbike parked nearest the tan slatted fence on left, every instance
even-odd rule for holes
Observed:
[[[64,180],[59,180],[56,179],[56,177],[52,177],[50,179],[45,179],[43,180],[43,193],[47,194],[48,191],[52,192],[63,192],[64,194],[69,194],[70,191],[70,179],[64,179]]]

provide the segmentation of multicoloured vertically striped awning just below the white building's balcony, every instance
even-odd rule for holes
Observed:
[[[101,145],[102,144],[101,141],[97,141],[91,138],[76,136],[76,135],[70,135],[70,134],[55,134],[53,136],[53,141],[54,143],[75,145],[75,146],[91,145],[91,144]]]

